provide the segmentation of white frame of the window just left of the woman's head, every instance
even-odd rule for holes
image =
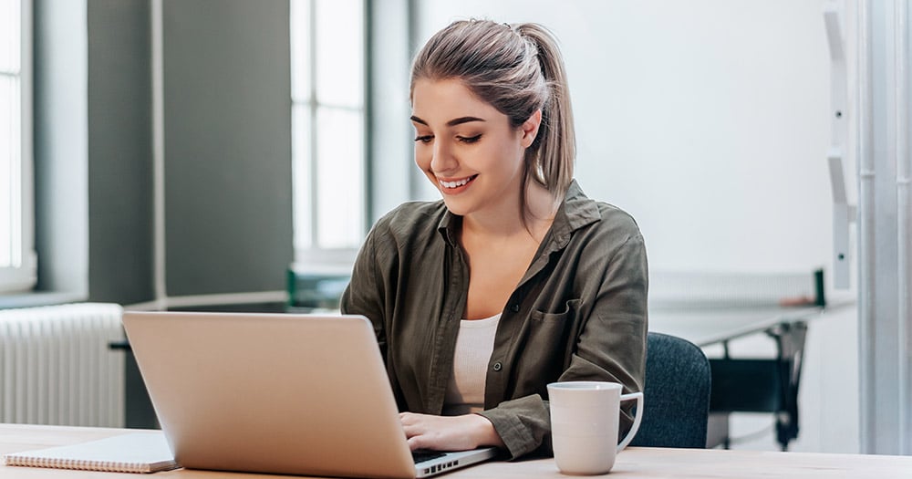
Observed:
[[[361,65],[361,89],[362,89],[362,100],[358,107],[352,107],[350,105],[339,105],[331,102],[321,101],[318,98],[316,93],[316,64],[317,64],[317,51],[321,46],[318,44],[318,39],[316,31],[313,28],[316,22],[316,2],[318,0],[290,0],[290,25],[291,28],[291,38],[292,38],[292,47],[291,47],[291,62],[292,62],[292,95],[291,95],[291,109],[292,114],[292,155],[293,155],[293,171],[294,171],[294,208],[295,208],[295,265],[293,266],[296,270],[306,270],[306,271],[341,271],[347,270],[350,271],[351,265],[354,263],[354,258],[358,253],[359,245],[351,245],[350,247],[326,247],[320,245],[320,231],[319,231],[319,203],[321,201],[319,197],[319,190],[316,187],[318,182],[317,180],[317,169],[319,168],[320,160],[318,159],[318,150],[319,150],[319,141],[321,140],[321,135],[319,133],[319,125],[317,123],[317,116],[321,109],[327,110],[332,109],[336,111],[347,111],[347,112],[356,112],[361,118],[360,122],[362,125],[362,135],[361,135],[361,151],[360,151],[360,161],[361,161],[361,176],[358,178],[360,183],[359,188],[361,189],[362,198],[361,204],[359,207],[359,218],[358,218],[358,231],[362,234],[366,234],[368,231],[368,218],[370,217],[370,197],[371,191],[369,185],[370,181],[370,99],[368,97],[368,87],[370,80],[370,49],[368,47],[369,41],[369,25],[370,25],[370,2],[368,0],[360,0],[362,3],[362,12],[363,16],[360,19],[361,21],[361,32],[362,32],[362,65]],[[307,14],[307,26],[301,27],[297,25],[295,9],[306,6],[309,8]],[[295,35],[306,35],[307,37],[307,52],[306,52],[306,68],[295,68],[296,62],[300,61],[302,52],[296,51],[295,47],[299,45],[295,41]],[[327,49],[330,49],[327,47]],[[295,71],[305,71],[307,76],[307,84],[309,91],[306,93],[306,99],[297,98],[295,96]],[[295,109],[306,110],[306,137],[301,137],[297,133],[301,130],[301,125],[295,120]],[[301,168],[302,164],[298,163],[298,158],[300,148],[306,149],[306,156],[309,157],[310,161],[307,161],[306,167],[308,171],[306,174],[307,180],[305,185],[301,185],[298,182],[299,172],[298,168]],[[299,195],[306,194],[306,199],[301,198]],[[302,216],[299,211],[299,206],[306,205],[306,220],[299,220]],[[302,224],[306,223],[306,224]],[[300,235],[306,234],[308,237],[306,241],[300,240]],[[302,245],[306,244],[306,245]]]

